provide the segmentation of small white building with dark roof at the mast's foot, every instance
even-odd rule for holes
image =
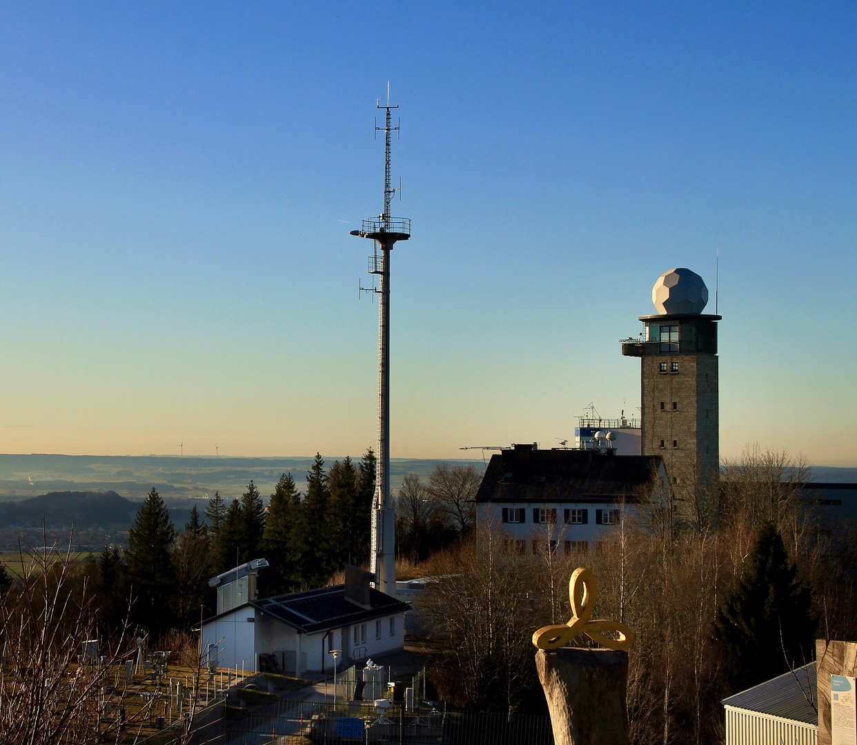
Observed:
[[[221,576],[240,574],[232,569]],[[224,583],[223,593],[218,587],[220,612],[202,623],[204,663],[259,670],[261,655],[270,655],[264,659],[273,661],[275,671],[299,676],[333,670],[334,649],[341,650],[340,670],[403,649],[405,611],[411,606],[370,587],[371,580],[369,572],[346,567],[343,585],[244,600],[234,607],[230,602],[242,593],[230,592],[230,583]]]

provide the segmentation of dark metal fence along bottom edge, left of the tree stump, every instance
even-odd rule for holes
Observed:
[[[445,712],[430,706],[405,711],[371,704],[283,701],[276,712],[249,713],[227,720],[223,745],[553,745],[550,718],[476,712]]]

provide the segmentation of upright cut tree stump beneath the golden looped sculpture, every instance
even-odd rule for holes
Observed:
[[[536,669],[548,700],[555,745],[626,745],[628,653],[540,649]]]

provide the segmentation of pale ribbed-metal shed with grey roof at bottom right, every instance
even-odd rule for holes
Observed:
[[[816,745],[815,663],[722,700],[726,745]]]

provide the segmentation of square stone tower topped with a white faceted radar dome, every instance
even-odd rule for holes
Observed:
[[[656,315],[622,340],[622,354],[640,357],[642,455],[662,456],[669,481],[692,486],[715,477],[720,464],[717,321],[704,315],[708,289],[689,269],[658,277]]]

